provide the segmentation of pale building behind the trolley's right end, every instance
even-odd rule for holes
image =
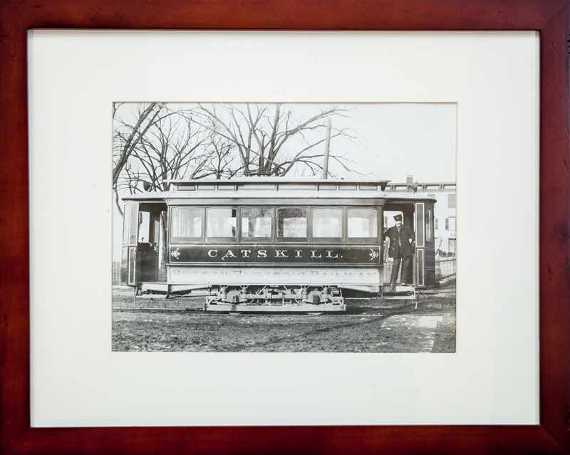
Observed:
[[[457,251],[455,182],[414,182],[413,176],[406,176],[405,183],[388,183],[386,191],[418,192],[437,200],[434,208],[435,256],[436,258],[455,258]],[[390,220],[385,216],[385,226]]]

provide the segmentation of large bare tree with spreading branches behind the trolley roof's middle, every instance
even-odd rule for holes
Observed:
[[[294,169],[301,174],[321,172],[323,150],[319,146],[325,142],[326,119],[346,117],[350,110],[332,105],[297,117],[283,104],[224,103],[199,104],[187,115],[212,135],[234,145],[244,175],[284,176]],[[333,128],[331,140],[339,136],[358,140],[348,128]],[[352,172],[346,155],[333,153],[331,159]]]

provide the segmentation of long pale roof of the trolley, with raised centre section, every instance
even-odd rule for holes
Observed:
[[[249,200],[268,202],[267,199],[362,199],[373,204],[380,200],[390,202],[430,201],[435,199],[412,192],[386,192],[389,180],[365,179],[306,179],[285,177],[242,177],[230,180],[194,179],[166,180],[175,186],[167,192],[146,192],[123,197],[125,201],[165,201],[169,204],[188,204],[188,199]],[[300,202],[300,201],[299,201]],[[339,201],[339,203],[341,203]]]

